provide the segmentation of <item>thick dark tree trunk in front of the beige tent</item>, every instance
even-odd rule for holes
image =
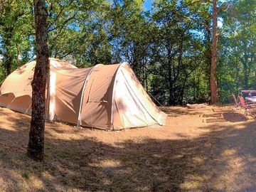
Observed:
[[[45,0],[34,0],[36,22],[36,67],[32,81],[32,115],[28,141],[28,156],[43,160],[46,82],[49,73],[47,9]]]

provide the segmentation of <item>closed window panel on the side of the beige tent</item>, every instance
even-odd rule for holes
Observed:
[[[93,79],[90,87],[88,102],[107,102],[112,76],[107,78]]]

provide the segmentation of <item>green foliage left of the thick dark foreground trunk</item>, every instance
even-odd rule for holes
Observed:
[[[29,1],[2,0],[0,6],[0,55],[2,65],[11,69],[28,62],[33,50],[31,39],[33,16]],[[1,68],[6,75],[6,67]]]

